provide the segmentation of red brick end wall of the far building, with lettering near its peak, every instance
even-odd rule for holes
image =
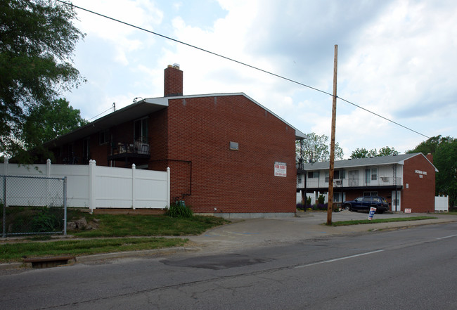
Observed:
[[[416,170],[427,174],[418,174]],[[403,177],[401,210],[435,212],[435,168],[432,164],[423,155],[416,155],[405,161]]]

